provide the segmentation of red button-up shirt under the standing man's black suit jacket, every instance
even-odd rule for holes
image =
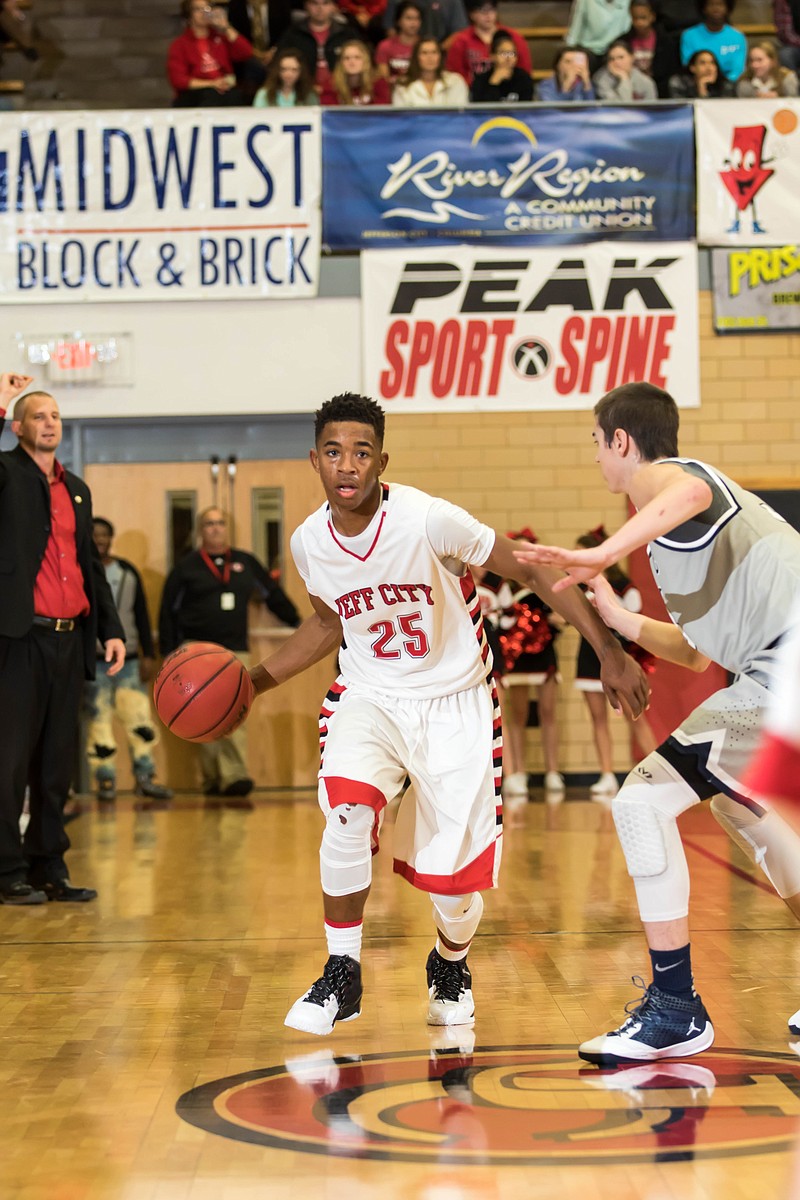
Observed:
[[[89,598],[76,545],[76,510],[64,467],[55,463],[50,482],[50,536],[34,584],[37,617],[85,617]]]

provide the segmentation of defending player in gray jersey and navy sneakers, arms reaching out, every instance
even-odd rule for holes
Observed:
[[[800,596],[800,534],[714,467],[678,457],[678,407],[660,388],[615,388],[595,407],[595,421],[603,479],[638,511],[596,548],[517,546],[517,557],[563,568],[559,598],[593,581],[608,624],[658,658],[694,671],[714,660],[735,677],[633,768],[613,802],[654,982],[619,1028],[579,1048],[582,1058],[609,1066],[693,1055],[714,1042],[692,978],[681,812],[714,797],[722,828],[800,916],[800,838],[745,781]],[[627,612],[596,578],[645,545],[674,624]],[[800,1032],[800,1013],[789,1027]]]

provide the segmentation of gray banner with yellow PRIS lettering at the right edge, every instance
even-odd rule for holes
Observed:
[[[711,275],[717,334],[800,329],[800,246],[712,250]]]

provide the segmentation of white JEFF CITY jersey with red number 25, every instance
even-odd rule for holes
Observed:
[[[291,536],[309,594],[342,620],[341,674],[350,688],[419,700],[474,688],[492,662],[465,564],[486,562],[494,530],[415,487],[381,488],[356,538],[337,533],[327,504]]]

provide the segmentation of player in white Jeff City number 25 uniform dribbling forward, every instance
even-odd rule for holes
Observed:
[[[326,503],[291,539],[314,613],[251,676],[275,688],[338,648],[320,715],[320,846],[329,959],[285,1024],[330,1033],[361,1012],[361,931],[385,805],[407,778],[395,871],[431,894],[428,1022],[471,1025],[467,952],[497,883],[501,731],[470,563],[519,575],[513,542],[462,509],[381,482],[384,413],[345,394],[317,413],[311,462]],[[527,570],[549,602],[560,572]],[[610,702],[638,715],[646,682],[579,592],[555,601],[597,650]]]

